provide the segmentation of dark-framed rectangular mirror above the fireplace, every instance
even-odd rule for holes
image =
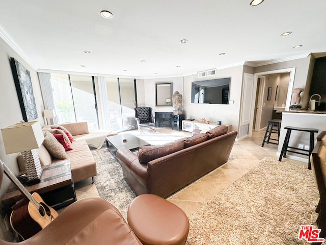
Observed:
[[[172,83],[155,83],[156,107],[172,107]]]

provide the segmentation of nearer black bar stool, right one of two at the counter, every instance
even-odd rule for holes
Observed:
[[[287,131],[286,131],[285,139],[284,139],[284,142],[283,142],[279,162],[282,160],[282,157],[285,157],[287,152],[292,152],[292,153],[308,156],[309,157],[308,169],[311,169],[310,154],[312,152],[312,149],[314,148],[314,137],[315,137],[314,134],[318,133],[318,129],[307,129],[307,128],[298,128],[298,127],[291,127],[291,126],[286,126],[284,129],[286,129]],[[296,148],[296,147],[288,146],[292,130],[303,131],[303,132],[309,132],[310,133],[309,150],[304,150],[304,149],[299,149],[299,148]],[[299,150],[300,152],[295,152],[295,151],[288,150],[288,149]],[[304,152],[309,152],[309,154],[304,153]]]

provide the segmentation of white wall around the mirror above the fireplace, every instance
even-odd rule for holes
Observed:
[[[174,107],[156,107],[155,104],[155,83],[161,83],[161,82],[172,82],[172,94],[175,91],[178,91],[183,96],[184,101],[184,94],[183,94],[183,77],[175,77],[175,78],[157,78],[157,79],[145,79],[144,81],[144,94],[145,94],[145,105],[148,107],[153,108],[153,114],[154,112],[160,112],[160,111],[173,111],[175,110]],[[138,90],[137,90],[138,92]],[[139,106],[142,104],[138,103]]]

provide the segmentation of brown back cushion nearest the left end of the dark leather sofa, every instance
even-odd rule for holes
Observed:
[[[156,158],[182,150],[183,145],[183,140],[180,140],[164,145],[141,146],[138,151],[138,160],[140,163],[147,164]]]

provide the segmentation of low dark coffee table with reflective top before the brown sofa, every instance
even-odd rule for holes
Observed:
[[[123,139],[126,139],[124,141]],[[145,140],[134,136],[133,134],[118,134],[114,136],[106,137],[106,146],[108,150],[116,156],[117,150],[121,147],[125,147],[131,152],[137,151],[140,146],[151,145]]]

